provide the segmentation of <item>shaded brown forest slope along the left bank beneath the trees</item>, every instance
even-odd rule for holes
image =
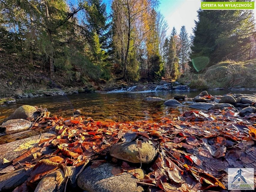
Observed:
[[[15,55],[0,52],[0,98],[14,96],[18,93],[32,93],[37,90],[84,88],[89,92],[131,85],[124,81],[76,82],[61,71],[56,71],[56,80],[52,82],[47,67],[37,64],[31,67],[24,62],[18,62]]]

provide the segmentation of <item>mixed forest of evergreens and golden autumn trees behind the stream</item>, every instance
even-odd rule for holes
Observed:
[[[35,76],[44,71],[41,83],[54,87],[184,79],[221,61],[256,58],[252,10],[199,9],[192,35],[185,26],[168,34],[160,3],[113,0],[107,12],[102,0],[1,1],[2,59]]]

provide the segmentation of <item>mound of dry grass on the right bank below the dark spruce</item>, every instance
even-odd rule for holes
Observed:
[[[178,79],[191,88],[256,87],[256,59],[244,62],[222,61],[205,70],[204,74],[183,73]]]

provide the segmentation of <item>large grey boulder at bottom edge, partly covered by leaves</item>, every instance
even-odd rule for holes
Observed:
[[[111,171],[121,169],[109,163],[101,164],[96,168],[87,167],[77,180],[78,186],[87,192],[144,192],[143,187],[137,186],[132,173],[114,176]]]

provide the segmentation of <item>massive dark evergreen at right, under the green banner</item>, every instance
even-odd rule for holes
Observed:
[[[252,58],[255,36],[252,10],[200,9],[197,13],[190,55],[192,60],[206,57],[209,65],[213,65],[226,59],[242,61]]]

